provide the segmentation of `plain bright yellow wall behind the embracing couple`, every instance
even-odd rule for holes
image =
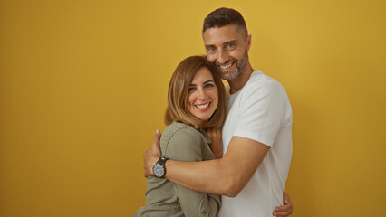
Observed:
[[[240,3],[236,3],[240,2]],[[246,18],[294,109],[294,216],[381,216],[386,2],[0,2],[0,216],[131,216],[169,78],[204,17]]]

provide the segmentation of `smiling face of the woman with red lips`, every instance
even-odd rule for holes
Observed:
[[[218,105],[218,91],[212,73],[202,67],[194,76],[188,90],[187,108],[201,120],[208,120]]]

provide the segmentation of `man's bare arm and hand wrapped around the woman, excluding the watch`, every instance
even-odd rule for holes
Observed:
[[[156,134],[154,140],[157,140]],[[157,151],[144,154],[145,176],[152,175],[152,165],[157,162]],[[236,196],[255,174],[269,146],[245,137],[232,137],[227,153],[216,160],[202,162],[179,162],[168,160],[166,178],[191,190]],[[147,156],[150,156],[148,158]],[[150,165],[149,165],[150,164]]]

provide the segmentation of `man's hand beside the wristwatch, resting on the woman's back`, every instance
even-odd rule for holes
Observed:
[[[151,147],[146,150],[145,153],[143,153],[143,170],[145,172],[143,175],[145,177],[154,175],[153,166],[156,165],[159,157],[161,156],[159,149],[159,138],[160,132],[157,130],[156,134],[154,135],[153,145],[151,145]]]

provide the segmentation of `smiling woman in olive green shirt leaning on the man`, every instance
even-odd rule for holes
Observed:
[[[222,156],[221,134],[226,117],[224,85],[205,56],[181,61],[171,77],[168,108],[160,139],[162,156],[203,161]],[[212,139],[208,137],[210,132]],[[216,135],[216,136],[215,136]],[[146,205],[134,216],[216,216],[220,196],[200,193],[167,179],[148,177]]]

